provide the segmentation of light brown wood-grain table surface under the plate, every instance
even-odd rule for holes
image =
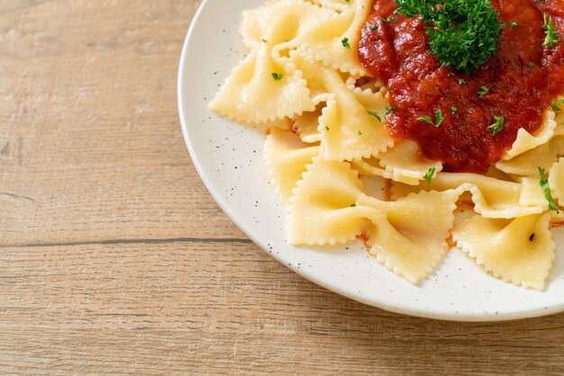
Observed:
[[[0,0],[0,373],[564,373],[564,315],[388,313],[241,234],[178,124],[198,4]]]

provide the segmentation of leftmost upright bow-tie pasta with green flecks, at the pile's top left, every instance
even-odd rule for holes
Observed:
[[[278,1],[245,13],[241,35],[250,54],[232,70],[210,108],[246,123],[314,111],[316,103],[302,72],[280,53],[296,48],[292,40],[332,17],[332,11],[297,0]]]

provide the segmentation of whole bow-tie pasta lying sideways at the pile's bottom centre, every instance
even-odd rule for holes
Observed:
[[[288,237],[295,245],[334,245],[366,234],[370,254],[417,283],[435,269],[449,246],[458,192],[421,192],[387,202],[362,191],[346,162],[315,158],[290,199]]]

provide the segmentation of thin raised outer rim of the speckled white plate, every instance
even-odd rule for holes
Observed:
[[[375,307],[377,309],[383,309],[389,312],[394,312],[401,315],[412,316],[416,318],[431,318],[437,320],[445,320],[445,321],[455,321],[455,322],[503,322],[503,321],[512,321],[517,319],[524,319],[524,318],[541,318],[546,316],[551,316],[555,314],[559,314],[564,312],[564,305],[562,306],[554,306],[550,309],[525,309],[523,311],[513,312],[513,313],[504,313],[500,315],[493,315],[491,313],[487,314],[450,314],[446,312],[430,312],[426,309],[413,309],[408,307],[401,307],[396,304],[387,304],[384,301],[380,300],[368,300],[362,294],[355,294],[354,292],[347,291],[342,289],[338,284],[332,284],[331,282],[324,282],[314,277],[314,275],[305,272],[305,269],[297,268],[294,264],[288,265],[287,263],[282,260],[281,257],[277,255],[273,255],[268,252],[268,246],[264,244],[258,237],[255,237],[254,231],[250,228],[245,226],[245,224],[238,219],[237,215],[233,210],[230,208],[230,205],[223,200],[221,195],[218,191],[214,188],[214,185],[210,182],[210,179],[206,175],[205,169],[202,168],[202,164],[200,163],[200,159],[197,157],[195,148],[192,144],[192,141],[188,135],[188,121],[186,118],[186,112],[183,106],[184,98],[186,96],[186,92],[184,90],[183,82],[186,80],[187,72],[186,70],[186,63],[188,60],[187,51],[193,41],[192,35],[196,30],[196,25],[202,16],[202,13],[205,11],[205,7],[208,4],[213,3],[214,0],[203,0],[202,3],[198,6],[194,17],[192,18],[190,25],[188,27],[188,31],[186,33],[186,38],[183,43],[180,60],[178,64],[178,73],[177,73],[177,107],[178,107],[178,116],[180,121],[180,127],[182,129],[183,138],[186,143],[186,148],[188,153],[192,159],[194,166],[196,167],[196,172],[199,175],[202,182],[205,184],[205,188],[214,198],[214,201],[219,205],[219,207],[223,210],[223,212],[232,220],[233,224],[237,226],[241,230],[241,232],[259,248],[274,258],[277,263],[282,264],[283,266],[290,269],[292,272],[300,275],[301,277],[305,278],[305,280],[313,282],[318,286],[323,287],[326,290],[332,291],[337,293],[341,296],[344,296],[350,300],[359,301],[362,304],[366,304],[370,307]],[[209,110],[208,110],[209,111]]]

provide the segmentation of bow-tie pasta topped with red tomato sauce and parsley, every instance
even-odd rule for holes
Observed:
[[[542,291],[564,223],[562,0],[270,0],[210,108],[267,133],[287,239]]]

